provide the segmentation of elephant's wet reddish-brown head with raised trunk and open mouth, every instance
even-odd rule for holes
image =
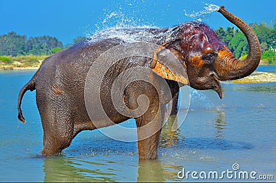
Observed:
[[[235,58],[219,41],[215,32],[204,23],[184,23],[172,30],[170,38],[161,47],[177,56],[186,69],[189,83],[185,83],[185,80],[181,79],[183,77],[172,74],[173,72],[159,62],[158,53],[162,50],[160,48],[156,51],[157,59],[152,61],[154,72],[195,89],[213,89],[220,98],[222,91],[219,80],[235,80],[254,72],[261,59],[257,36],[244,21],[227,12],[223,6],[218,12],[244,32],[249,50],[244,60]]]

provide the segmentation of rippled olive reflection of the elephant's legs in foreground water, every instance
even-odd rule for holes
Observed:
[[[138,169],[137,173],[134,172],[137,177],[133,176],[130,180],[130,177],[125,177],[126,174],[133,173],[128,165],[125,164],[126,169],[115,173],[109,162],[99,161],[91,162],[65,155],[46,157],[43,164],[44,182],[117,182],[123,181],[124,178],[130,182],[165,182],[175,180],[176,173],[180,169],[180,166],[172,162],[162,164],[160,160],[137,160],[138,162],[132,162],[132,166]],[[104,169],[106,166],[110,168]]]

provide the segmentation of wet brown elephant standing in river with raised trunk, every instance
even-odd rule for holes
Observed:
[[[101,74],[103,61],[99,61],[97,67],[93,65],[97,58],[112,47],[124,44],[125,41],[116,37],[96,36],[46,58],[30,81],[20,90],[17,106],[19,120],[26,122],[21,111],[21,100],[26,91],[36,89],[37,107],[43,127],[41,155],[59,155],[83,130],[108,127],[134,118],[137,126],[139,159],[155,159],[164,123],[165,106],[173,100],[171,114],[177,114],[179,87],[188,85],[199,90],[213,89],[222,98],[219,80],[243,78],[254,72],[259,65],[261,59],[259,41],[250,26],[228,12],[224,6],[217,11],[244,32],[248,41],[248,56],[244,60],[235,58],[205,23],[181,23],[174,28],[164,29],[144,28],[146,34],[137,37],[142,41],[159,45],[155,47],[152,58],[145,56],[123,58],[110,65],[103,74],[103,80],[100,81],[99,99],[103,111],[113,122],[112,124],[101,119],[95,122],[98,120],[97,113],[93,119],[90,118],[84,99],[86,80],[93,80],[88,77],[91,70]],[[128,30],[128,34],[135,36],[138,31],[141,32],[135,29]],[[154,39],[147,40],[147,34],[155,35]],[[169,52],[175,56],[185,73],[174,73],[170,69],[170,60],[164,61],[167,57],[162,52]],[[114,52],[114,55],[117,54]],[[112,58],[108,56],[108,59]],[[123,95],[117,97],[125,105],[122,109],[124,114],[121,114],[112,103],[112,85],[119,76],[123,80],[128,80],[131,78],[128,75],[140,74],[139,69],[137,72],[126,72],[136,67],[149,70],[146,74],[142,73],[148,80],[133,80],[124,86]],[[120,75],[122,72],[125,73],[124,76]],[[165,82],[169,90],[164,89],[162,82]],[[90,86],[89,91],[95,92],[94,90],[97,89]],[[93,96],[88,98],[92,104],[92,111],[99,108],[97,105],[93,106],[96,98]],[[136,109],[138,110],[135,111]],[[142,113],[139,112],[140,109]]]

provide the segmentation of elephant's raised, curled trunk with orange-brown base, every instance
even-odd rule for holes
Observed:
[[[217,78],[219,78],[219,80],[244,78],[254,72],[259,65],[259,61],[261,60],[259,41],[249,25],[235,15],[230,14],[230,12],[227,12],[224,6],[221,6],[218,12],[244,32],[248,41],[248,56],[241,61],[235,58],[227,47],[224,47],[223,50],[219,50],[218,61],[215,62]]]

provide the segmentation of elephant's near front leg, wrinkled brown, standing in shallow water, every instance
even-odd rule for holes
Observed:
[[[142,80],[131,83],[126,88],[124,100],[130,115],[136,120],[139,159],[155,159],[161,127],[164,124],[165,105],[157,90],[159,80],[152,85]],[[160,91],[160,90],[159,90]]]

